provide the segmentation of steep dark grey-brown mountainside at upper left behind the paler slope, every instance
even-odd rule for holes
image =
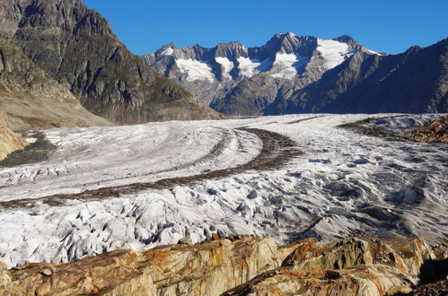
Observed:
[[[86,109],[113,122],[216,118],[119,42],[78,0],[3,0],[0,37],[17,45]]]

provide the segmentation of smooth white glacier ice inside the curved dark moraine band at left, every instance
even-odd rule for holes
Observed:
[[[0,202],[194,175],[250,161],[261,149],[255,135],[198,124],[173,121],[45,131],[57,150],[48,161],[0,168]],[[219,153],[207,157],[218,144]]]

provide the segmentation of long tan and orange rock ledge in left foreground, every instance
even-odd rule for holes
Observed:
[[[229,239],[173,245],[144,253],[118,250],[52,268],[0,269],[1,295],[218,295],[279,266],[275,239]],[[28,276],[18,275],[27,273]]]

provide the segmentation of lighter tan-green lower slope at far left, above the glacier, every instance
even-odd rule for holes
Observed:
[[[109,125],[84,109],[19,48],[0,39],[0,126],[20,130]]]

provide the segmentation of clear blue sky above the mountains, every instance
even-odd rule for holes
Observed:
[[[261,46],[277,32],[347,34],[375,51],[400,53],[448,37],[448,0],[84,0],[137,55],[167,43],[241,41]]]

